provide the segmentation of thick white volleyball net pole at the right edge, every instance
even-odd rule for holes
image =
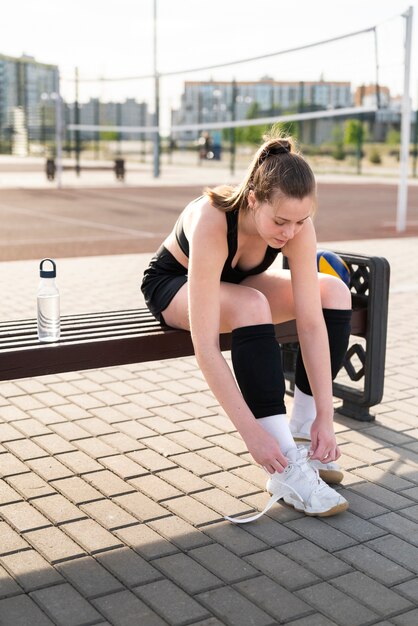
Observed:
[[[401,119],[401,150],[400,150],[400,178],[398,187],[398,208],[396,215],[396,231],[406,230],[406,213],[408,202],[408,160],[409,141],[411,134],[411,102],[409,96],[409,80],[411,74],[411,43],[412,43],[412,17],[414,9],[409,7],[403,16],[406,18],[405,25],[405,68],[404,88],[402,98]]]

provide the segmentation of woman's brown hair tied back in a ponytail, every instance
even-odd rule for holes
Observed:
[[[240,185],[205,189],[213,206],[225,212],[248,211],[251,190],[258,202],[269,202],[273,196],[300,200],[307,196],[316,197],[314,173],[296,151],[292,137],[276,135],[264,139]]]

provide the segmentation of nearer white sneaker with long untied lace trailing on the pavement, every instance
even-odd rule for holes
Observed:
[[[294,448],[288,452],[289,464],[279,474],[275,472],[267,480],[267,491],[272,495],[261,513],[246,518],[228,517],[235,524],[252,522],[266,513],[275,502],[283,498],[286,504],[306,515],[327,517],[348,509],[348,502],[319,477],[307,459],[304,447]]]

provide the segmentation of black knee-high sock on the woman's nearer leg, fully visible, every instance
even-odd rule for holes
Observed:
[[[281,351],[273,324],[233,330],[231,357],[238,386],[254,416],[286,413]]]

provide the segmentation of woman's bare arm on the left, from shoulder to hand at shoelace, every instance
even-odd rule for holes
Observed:
[[[228,255],[225,215],[209,204],[196,211],[188,239],[189,316],[199,367],[220,405],[240,432],[255,461],[283,471],[287,461],[277,441],[255,419],[219,346],[220,278]]]

